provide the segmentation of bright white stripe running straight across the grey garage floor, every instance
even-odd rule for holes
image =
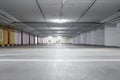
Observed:
[[[63,60],[63,59],[0,59],[2,61],[13,61],[13,62],[119,62],[120,59],[81,59],[81,60]]]

